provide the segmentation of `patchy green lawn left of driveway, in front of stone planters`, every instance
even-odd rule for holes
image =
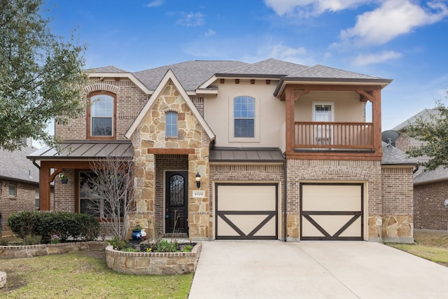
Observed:
[[[187,298],[193,274],[121,274],[104,252],[83,251],[0,261],[8,275],[0,298]]]

